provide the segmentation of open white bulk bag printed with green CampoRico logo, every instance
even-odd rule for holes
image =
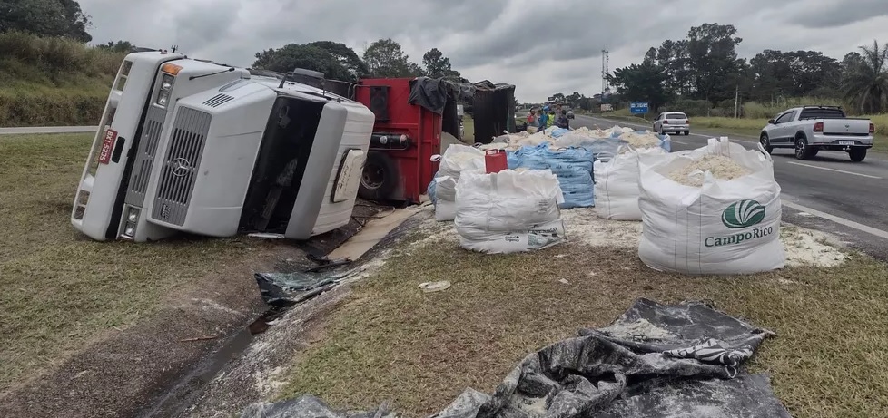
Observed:
[[[702,187],[667,178],[705,153],[720,154],[751,170],[734,180],[705,173]],[[638,257],[651,268],[691,275],[752,274],[784,267],[780,242],[780,185],[766,152],[726,138],[663,159],[639,155],[638,200],[643,233]],[[764,154],[764,156],[763,156]]]

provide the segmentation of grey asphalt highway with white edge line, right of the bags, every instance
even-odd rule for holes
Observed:
[[[638,124],[577,115],[572,128],[607,129],[614,125],[650,129]],[[726,136],[747,149],[757,150],[756,138],[718,131],[670,135],[672,150],[693,150],[709,138]],[[841,151],[821,151],[813,160],[796,160],[793,150],[775,150],[774,175],[782,190],[784,220],[829,232],[845,244],[888,260],[888,156],[871,153],[852,162]]]

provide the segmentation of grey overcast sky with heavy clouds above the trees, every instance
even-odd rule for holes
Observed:
[[[888,43],[888,0],[80,0],[94,42],[178,44],[183,53],[249,66],[284,44],[337,41],[359,54],[390,37],[411,60],[437,47],[473,82],[516,84],[522,102],[601,91],[610,69],[704,23],[734,24],[739,53],[822,51],[841,59]],[[745,16],[745,17],[741,17]]]

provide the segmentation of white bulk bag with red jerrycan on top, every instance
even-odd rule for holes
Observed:
[[[564,196],[551,170],[464,171],[456,197],[454,223],[463,248],[510,253],[565,241],[558,209]]]

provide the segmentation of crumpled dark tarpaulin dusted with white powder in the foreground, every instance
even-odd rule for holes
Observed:
[[[790,417],[768,378],[742,365],[769,331],[702,303],[638,299],[612,325],[528,355],[493,395],[467,389],[432,418]],[[313,396],[256,403],[242,418],[377,418]]]

